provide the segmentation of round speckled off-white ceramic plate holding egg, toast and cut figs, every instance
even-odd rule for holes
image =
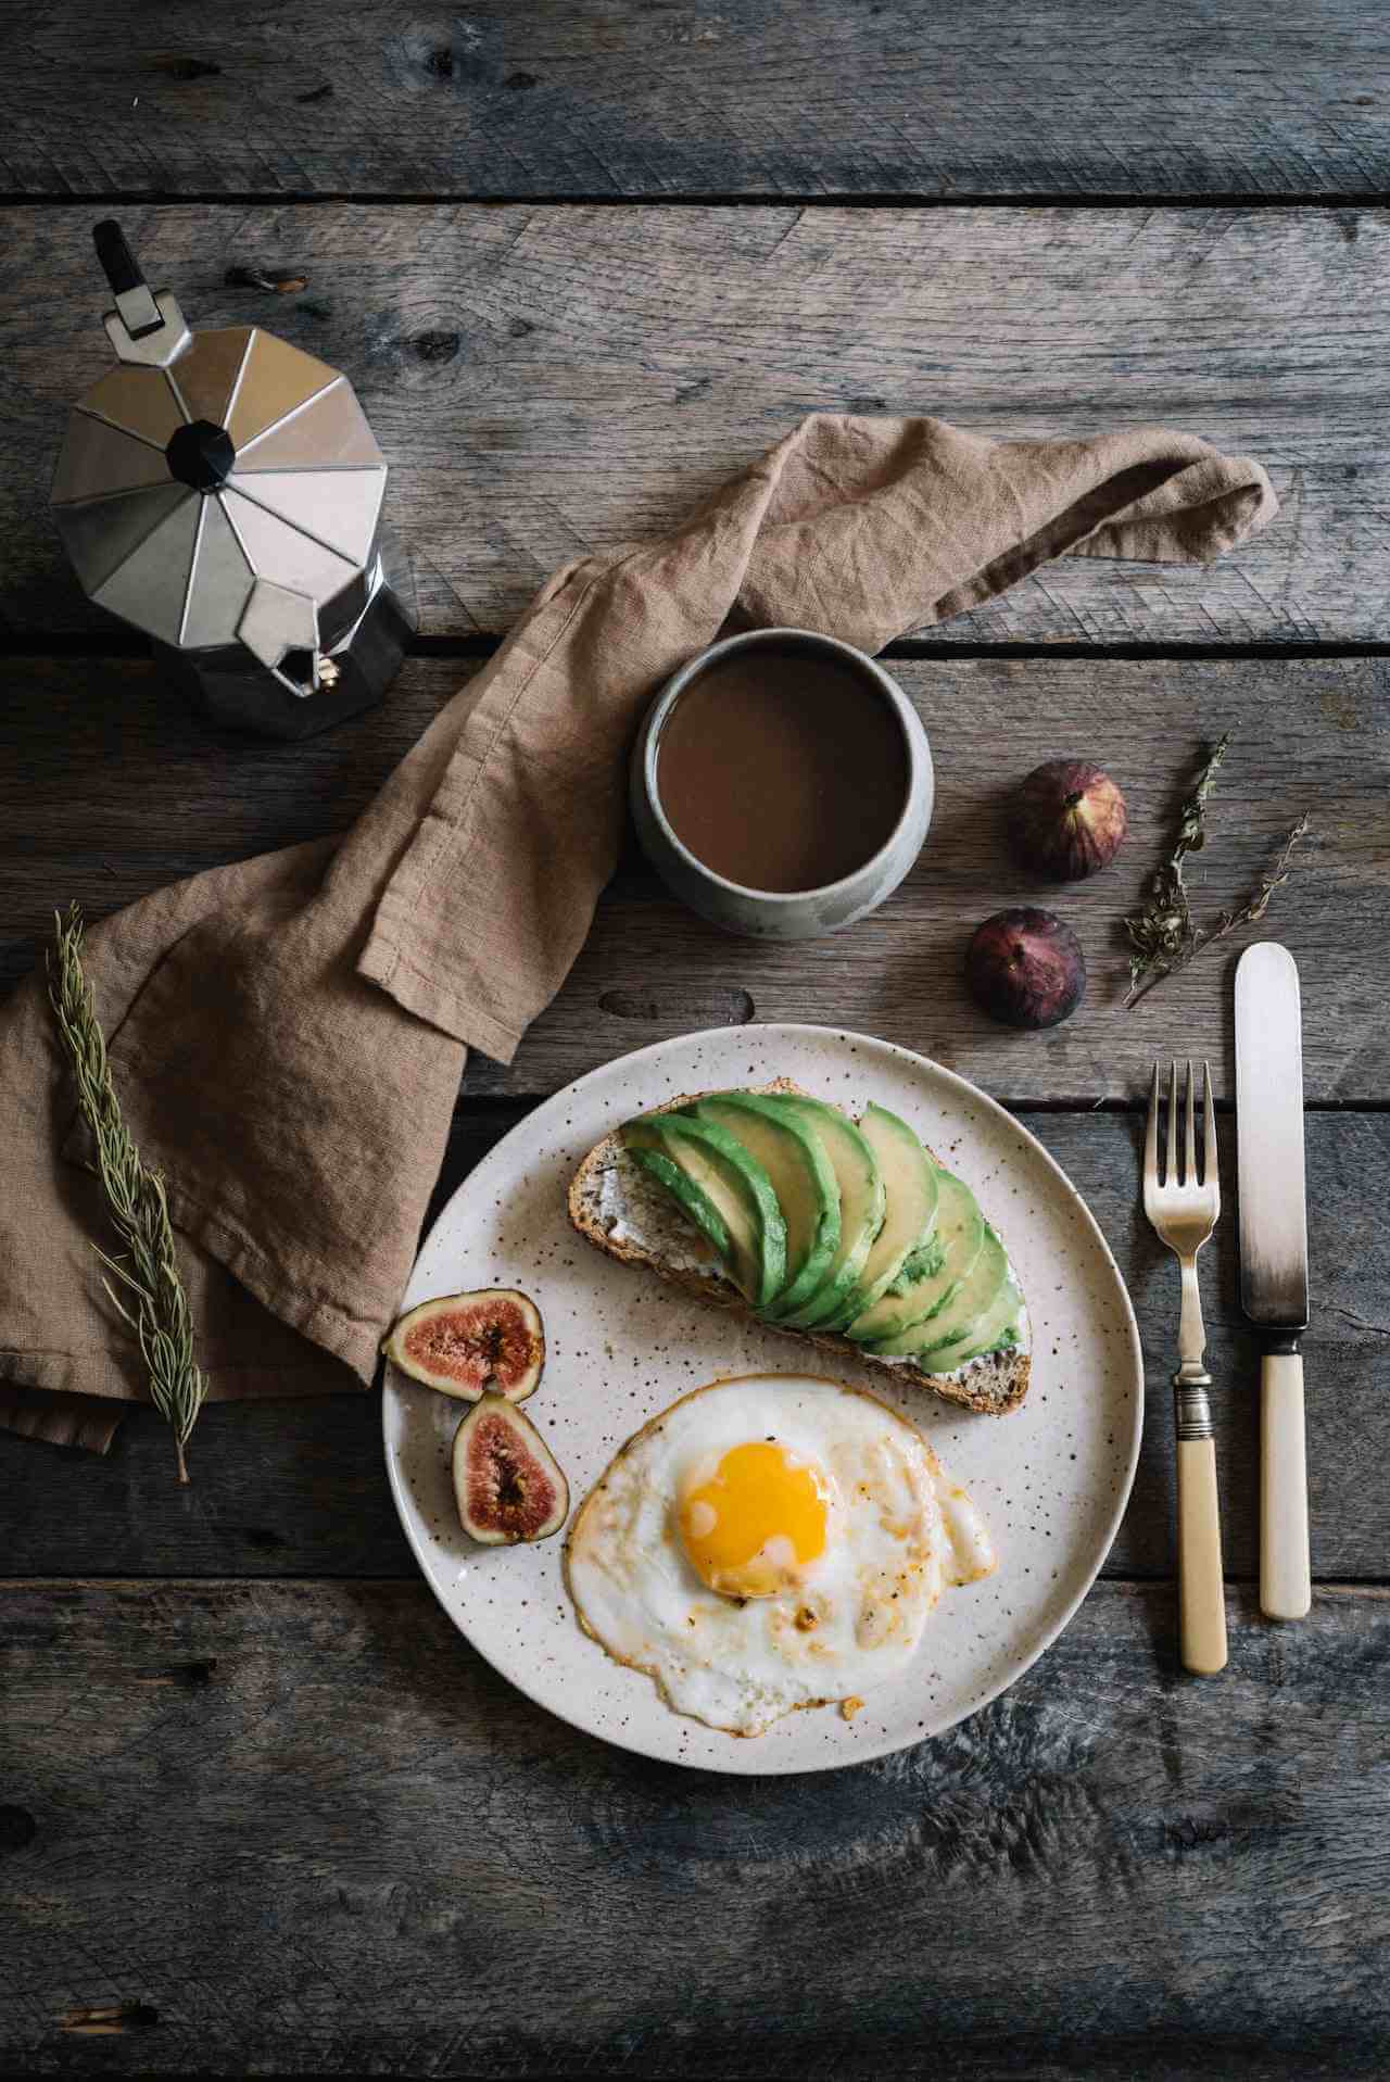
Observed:
[[[1134,1312],[1076,1187],[982,1091],[907,1049],[828,1026],[724,1026],[593,1070],[529,1114],[435,1222],[406,1307],[466,1287],[522,1287],[545,1318],[547,1364],[526,1414],[570,1478],[574,1507],[653,1412],[716,1374],[832,1370],[755,1322],[687,1299],[583,1243],[566,1216],[574,1166],[612,1126],[674,1093],[791,1076],[911,1122],[959,1168],[999,1226],[1032,1314],[1028,1401],[1005,1418],[953,1412],[847,1362],[834,1372],[895,1401],[984,1509],[999,1570],[947,1591],[911,1672],[843,1720],[791,1713],[755,1738],[676,1716],[651,1678],[581,1632],[562,1537],[474,1547],[458,1526],[449,1445],[464,1405],[387,1370],[387,1472],[406,1537],[468,1641],[539,1705],[624,1749],[712,1772],[816,1772],[941,1734],[995,1699],[1057,1639],[1119,1524],[1142,1424]]]

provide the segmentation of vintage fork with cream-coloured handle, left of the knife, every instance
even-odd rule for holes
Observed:
[[[1196,1253],[1221,1212],[1217,1183],[1211,1064],[1203,1064],[1203,1174],[1196,1176],[1196,1074],[1188,1060],[1184,1166],[1178,1172],[1178,1064],[1167,1091],[1167,1164],[1159,1178],[1159,1066],[1153,1066],[1149,1133],[1144,1137],[1144,1214],[1182,1266],[1180,1366],[1174,1374],[1178,1418],[1178,1630],[1186,1670],[1209,1676],[1226,1666],[1226,1586],[1221,1582],[1221,1516],[1211,1439],[1211,1374],[1203,1366],[1207,1332],[1196,1287]]]

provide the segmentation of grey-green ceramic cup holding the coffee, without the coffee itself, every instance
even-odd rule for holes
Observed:
[[[658,756],[662,750],[662,731],[676,702],[710,666],[720,664],[737,652],[755,652],[757,648],[776,648],[780,652],[805,650],[807,654],[832,660],[841,668],[849,666],[889,706],[903,733],[907,787],[897,824],[864,866],[836,883],[826,883],[822,889],[772,891],[745,889],[741,883],[730,883],[726,877],[716,874],[714,868],[707,868],[703,860],[695,858],[662,810]],[[841,643],[836,637],[818,635],[812,629],[753,629],[747,635],[712,643],[666,681],[647,710],[637,745],[633,747],[630,797],[637,835],[647,860],[672,895],[689,904],[701,918],[722,926],[726,933],[751,939],[816,939],[820,933],[836,933],[841,926],[855,924],[855,920],[876,910],[884,897],[893,895],[922,852],[922,841],[932,820],[932,752],[916,708],[897,681],[868,652],[855,650],[853,643]]]

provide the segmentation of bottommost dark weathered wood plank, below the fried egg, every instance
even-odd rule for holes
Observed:
[[[1165,1593],[1103,1586],[809,1784],[570,1732],[422,1584],[2,1609],[12,2072],[1384,2074],[1384,1591],[1242,1597],[1194,1684]]]

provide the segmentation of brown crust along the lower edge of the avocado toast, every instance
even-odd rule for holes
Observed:
[[[799,1087],[787,1076],[778,1076],[774,1083],[757,1085],[753,1089],[764,1093],[799,1091]],[[664,1106],[653,1108],[653,1112],[670,1114],[678,1106],[691,1106],[697,1097],[701,1097],[701,1093],[680,1093],[680,1097],[668,1099]],[[620,1151],[622,1135],[614,1128],[593,1145],[574,1172],[574,1178],[570,1180],[568,1208],[570,1222],[576,1233],[608,1258],[616,1258],[624,1266],[643,1266],[670,1287],[680,1287],[699,1301],[732,1310],[741,1316],[753,1316],[755,1312],[747,1305],[730,1280],[720,1278],[718,1274],[712,1276],[695,1272],[689,1266],[668,1266],[655,1251],[647,1251],[643,1245],[633,1243],[630,1237],[614,1239],[608,1235],[597,1216],[597,1178]],[[1013,1349],[986,1353],[980,1360],[972,1360],[959,1378],[951,1378],[949,1374],[930,1374],[926,1368],[913,1366],[911,1360],[882,1360],[872,1351],[864,1351],[864,1347],[851,1343],[851,1339],[839,1337],[834,1330],[793,1330],[780,1322],[770,1322],[766,1318],[757,1320],[764,1322],[768,1330],[776,1330],[780,1337],[793,1337],[801,1345],[816,1345],[818,1351],[828,1351],[841,1360],[855,1360],[859,1366],[872,1366],[891,1380],[911,1380],[913,1387],[928,1389],[943,1401],[963,1405],[966,1410],[980,1410],[986,1416],[1007,1416],[1007,1412],[1018,1410],[1028,1395],[1028,1380],[1032,1374],[1032,1353],[1028,1351]]]

